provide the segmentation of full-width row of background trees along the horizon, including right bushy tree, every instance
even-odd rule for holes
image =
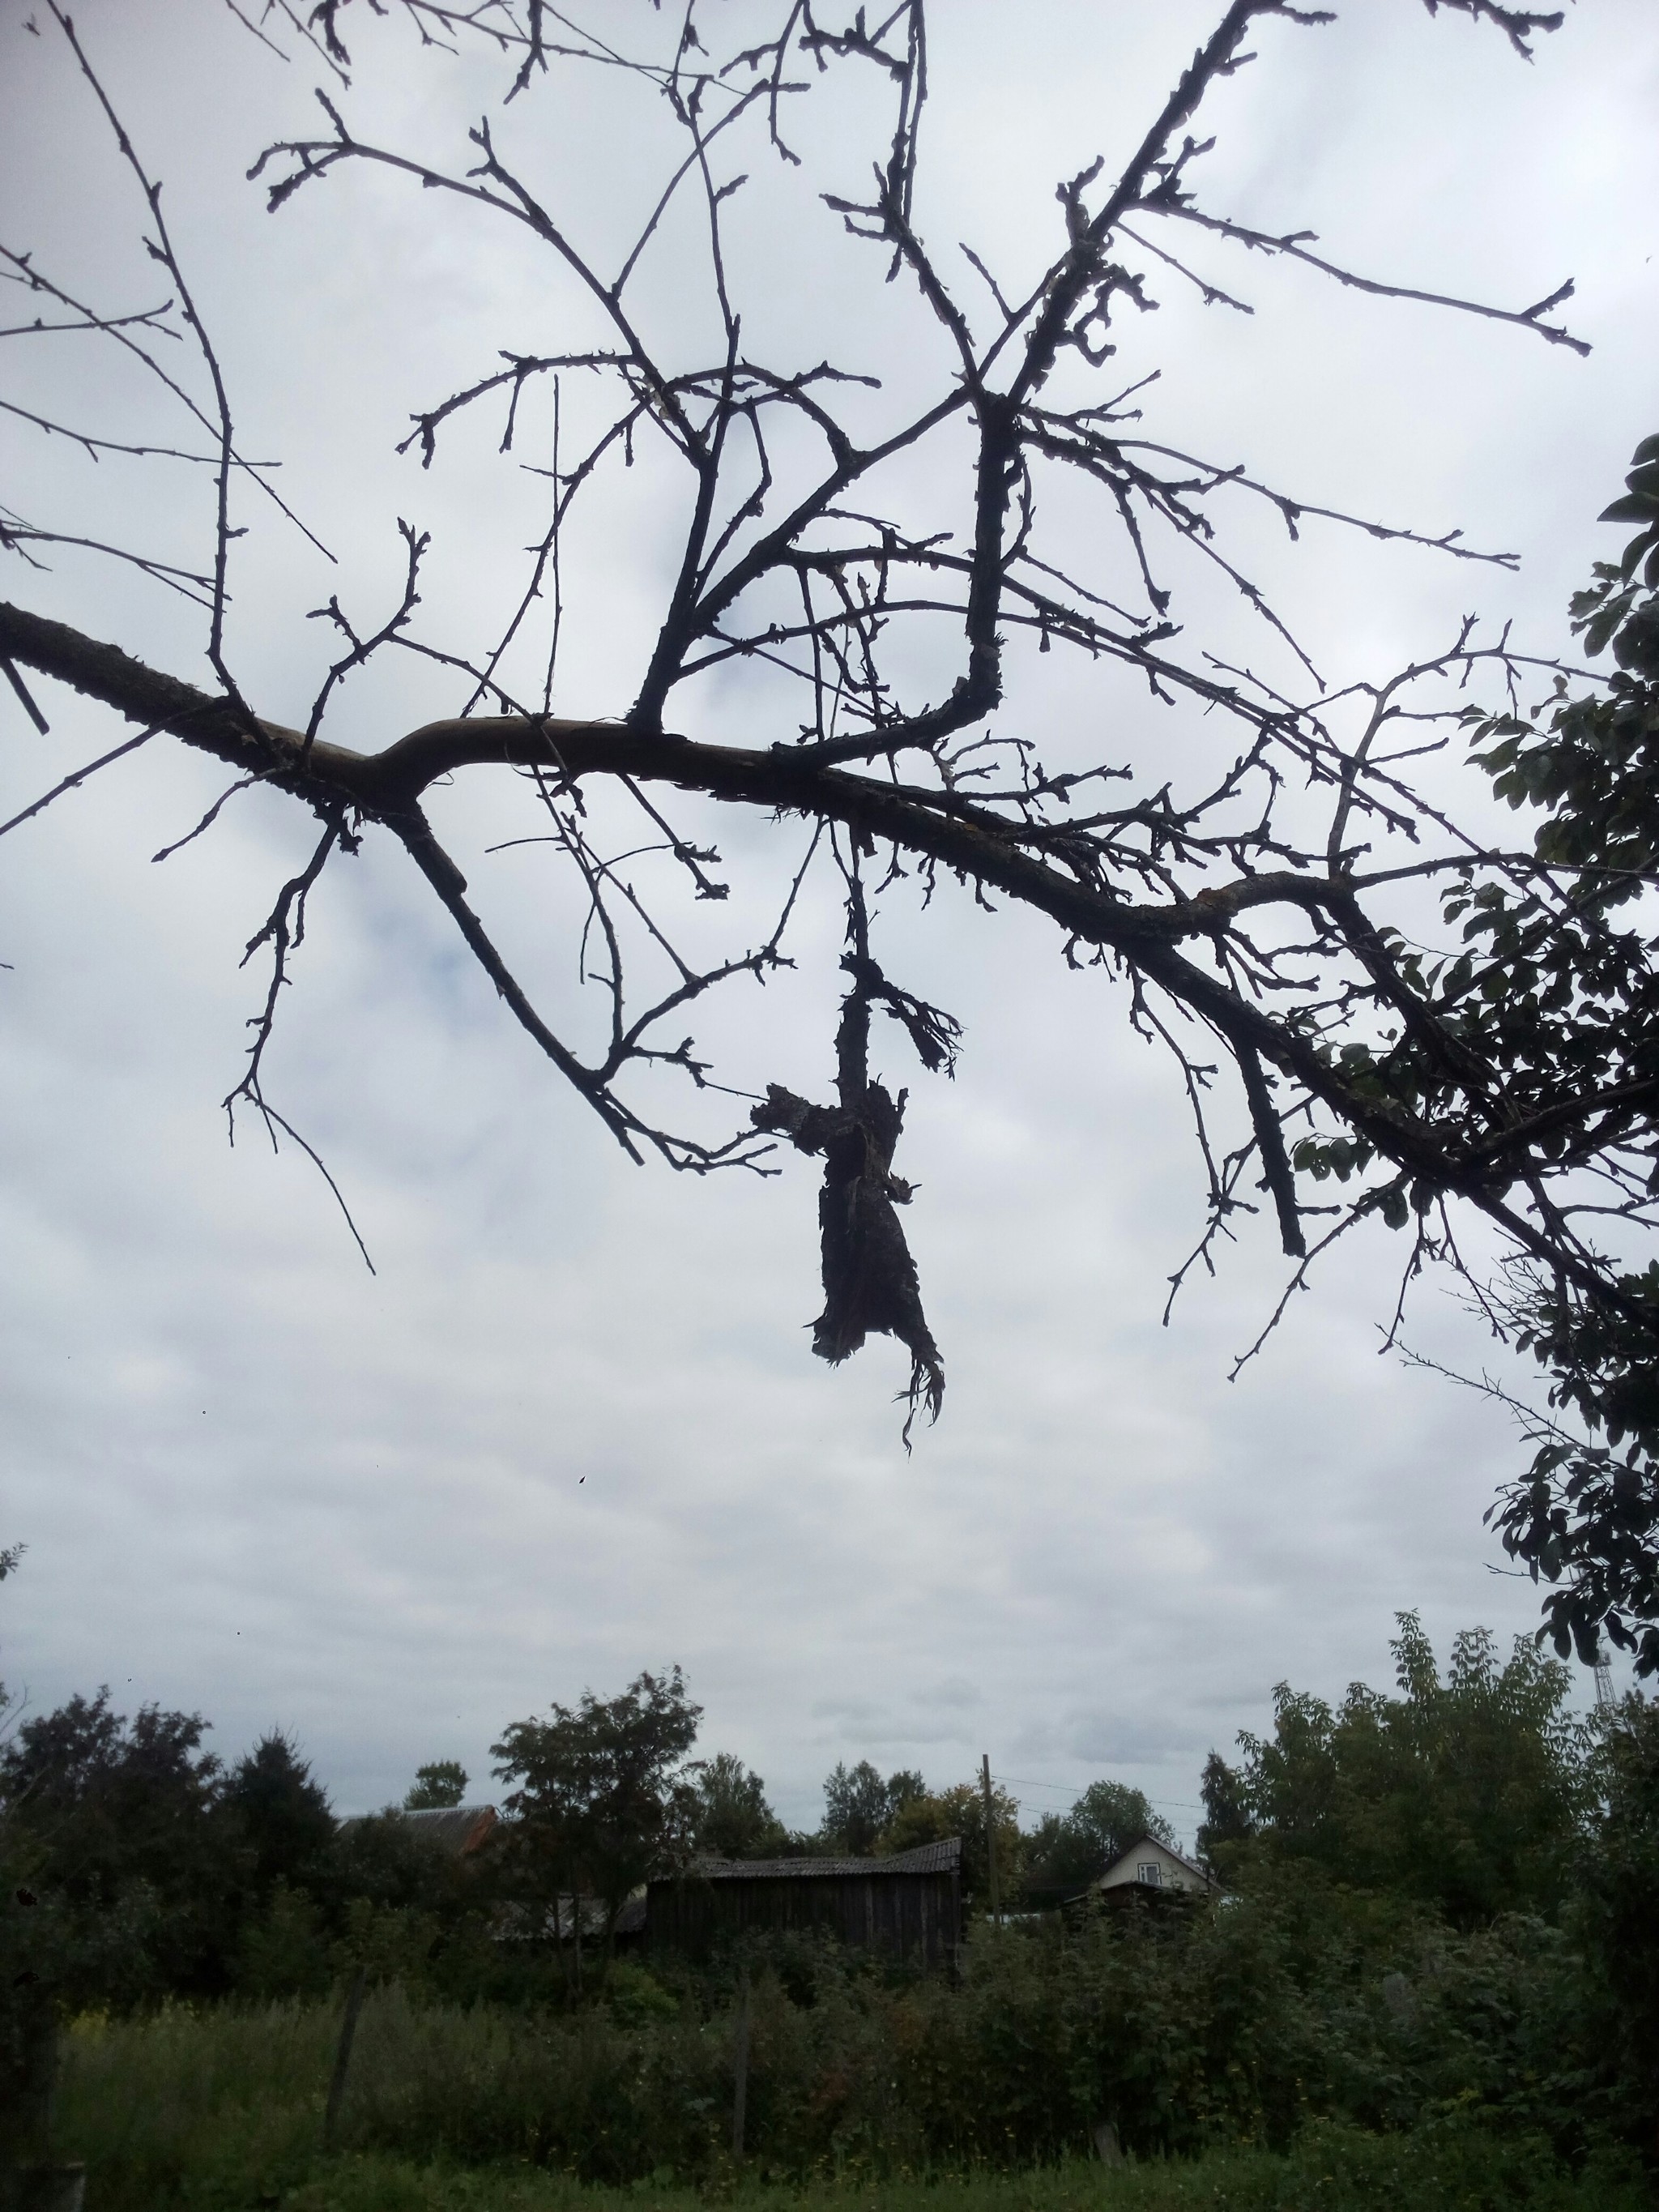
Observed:
[[[1232,1763],[1206,1761],[1197,1854],[1225,1887],[1252,1867],[1298,1869],[1409,1896],[1464,1929],[1559,1913],[1608,1803],[1608,1745],[1626,1739],[1577,1717],[1568,1670],[1524,1639],[1502,1659],[1469,1630],[1442,1672],[1402,1615],[1394,1657],[1394,1694],[1354,1683],[1332,1705],[1281,1683],[1272,1730],[1241,1736]],[[699,1858],[867,1856],[947,1836],[962,1838],[964,1891],[984,1907],[980,1781],[929,1787],[838,1763],[818,1827],[790,1829],[741,1759],[697,1756],[699,1725],[679,1668],[513,1721],[493,1745],[502,1818],[462,1860],[403,1818],[465,1801],[456,1761],[422,1765],[403,1807],[341,1820],[283,1732],[223,1763],[201,1714],[128,1719],[108,1690],[73,1697],[15,1717],[0,1743],[11,1949],[64,2002],[117,2008],[325,1989],[347,1960],[442,1962],[451,1984],[500,1993],[529,1989],[526,1962],[557,1958],[560,1933],[604,1955],[628,1896]],[[1146,1834],[1177,1840],[1139,1790],[1108,1778],[1029,1827],[1004,1785],[989,1807],[1009,1907],[1079,1896]],[[495,1940],[504,1909],[513,1944]]]

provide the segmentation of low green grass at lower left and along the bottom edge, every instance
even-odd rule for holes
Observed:
[[[785,2170],[768,2168],[761,2146],[739,2172],[726,2101],[706,2095],[728,2066],[717,2031],[686,2020],[666,2046],[672,2068],[641,2079],[635,2064],[633,2101],[617,2101],[617,2057],[639,2046],[604,2017],[553,2031],[416,2006],[396,1989],[363,2008],[341,2148],[325,2157],[336,2035],[338,2011],[310,2002],[80,2022],[53,2135],[60,2157],[88,2163],[88,2212],[692,2212],[710,2201],[743,2212],[1652,2212],[1628,2163],[1568,2172],[1540,2137],[1455,2115],[1411,2135],[1314,2121],[1285,2154],[1234,2148],[1121,2168],[1073,2157],[956,2174],[918,2170],[891,2137],[854,2135]],[[684,2112],[670,2112],[657,2137],[657,2104],[675,2099],[697,2126],[688,2135]],[[653,2139],[690,2141],[695,2157],[646,2168]],[[630,2166],[637,2179],[582,2181],[577,2166]]]

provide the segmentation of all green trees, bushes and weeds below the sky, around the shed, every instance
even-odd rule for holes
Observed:
[[[1281,1688],[1272,1732],[1210,1759],[1214,1898],[993,1920],[980,1889],[951,1978],[772,1936],[697,1969],[595,1938],[580,1980],[571,1920],[560,1942],[533,1909],[546,1891],[522,1887],[524,1812],[456,1858],[398,1812],[336,1823],[283,1739],[226,1772],[199,1719],[77,1699],[0,1754],[13,2086],[51,2015],[51,2143],[88,2159],[100,2212],[414,2212],[480,2190],[538,2212],[575,2185],[664,2205],[878,2185],[889,2205],[949,2177],[989,2205],[1013,2188],[998,2174],[1026,2177],[1033,2208],[1641,2203],[1659,1708],[1586,1721],[1557,1661],[1526,1641],[1500,1659],[1484,1632],[1442,1670],[1409,1615],[1394,1652],[1391,1694]],[[635,1683],[575,1712],[615,1741],[628,1699],[653,1710]],[[872,1776],[836,1770],[830,1814],[867,1814]],[[916,1783],[880,1785],[876,1849],[969,1805]],[[460,1787],[434,1763],[411,1796]],[[688,1851],[699,1803],[730,1823],[732,1801],[776,1849],[737,1761],[686,1759],[657,1787]],[[1044,1893],[1113,1787],[1022,1836],[1009,1885]],[[602,1927],[604,1893],[586,1896]],[[325,2152],[352,1986],[367,1997]]]

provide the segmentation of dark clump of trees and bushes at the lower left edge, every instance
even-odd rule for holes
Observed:
[[[336,1825],[285,1736],[223,1772],[204,1734],[199,1714],[128,1721],[100,1692],[0,1747],[9,2068],[64,2006],[314,1997],[356,1964],[491,1986],[487,1885],[396,1814]]]

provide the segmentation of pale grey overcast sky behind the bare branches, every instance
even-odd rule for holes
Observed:
[[[615,38],[650,35],[630,0],[602,13]],[[922,228],[1015,274],[1042,265],[1055,179],[1139,139],[1217,13],[940,0]],[[398,513],[434,531],[434,635],[482,619],[520,573],[540,493],[493,458],[498,422],[462,429],[429,473],[392,449],[498,347],[586,343],[582,312],[515,241],[398,177],[343,175],[268,219],[243,173],[312,131],[312,55],[268,53],[208,0],[84,0],[75,22],[166,179],[246,449],[283,462],[285,498],[341,555],[325,573],[299,535],[246,518],[234,666],[263,712],[303,721],[327,641],[301,617],[336,588],[365,619],[385,611]],[[354,35],[358,128],[462,161],[500,66],[422,53],[396,20]],[[1659,425],[1659,15],[1579,0],[1533,66],[1407,0],[1356,0],[1321,33],[1265,24],[1256,44],[1217,108],[1210,206],[1502,305],[1571,274],[1568,319],[1595,349],[1232,263],[1248,321],[1166,294],[1155,434],[1526,555],[1506,575],[1336,533],[1281,549],[1243,522],[1327,675],[1387,675],[1473,606],[1557,648],[1566,593],[1608,551],[1593,518]],[[0,239],[106,307],[153,305],[131,181],[27,0],[0,0]],[[825,164],[807,181],[856,186],[876,111],[830,113],[816,137],[803,126]],[[502,133],[595,250],[661,173],[650,106],[608,82],[522,104]],[[852,347],[902,394],[931,336],[803,192],[768,173],[750,195],[745,334],[803,361]],[[690,330],[684,241],[641,274],[661,327]],[[179,434],[80,336],[9,341],[0,365],[20,405],[60,420]],[[4,469],[15,511],[201,551],[206,471],[93,467],[15,420]],[[633,695],[672,555],[661,500],[641,467],[595,507],[568,582],[566,712]],[[0,588],[206,681],[199,615],[131,573],[64,551],[44,573],[9,560]],[[49,739],[0,697],[0,816],[119,737],[69,692],[42,686],[42,703]],[[1020,710],[1042,737],[1066,703],[1033,690]],[[336,737],[372,750],[456,706],[407,661],[363,679]],[[739,686],[688,728],[768,741],[768,712]],[[1442,1641],[1533,1626],[1531,1586],[1493,1573],[1480,1520],[1515,1464],[1509,1422],[1378,1358],[1385,1230],[1321,1272],[1237,1383],[1281,1287],[1265,1232],[1159,1325],[1201,1228],[1175,1073],[1110,984],[1066,973],[1022,916],[891,916],[907,980],[967,1029],[956,1084],[914,1079],[905,1139],[949,1371],[914,1455],[896,1347],[841,1371],[810,1356],[812,1166],[630,1168],[374,843],[325,878],[270,1064],[349,1197],[369,1276],[303,1157],[252,1128],[226,1146],[219,1099],[261,989],[237,962],[310,834],[250,794],[153,865],[219,787],[210,763],[146,748],[4,845],[0,1540],[29,1557],[4,1586],[0,1663],[33,1708],[108,1681],[126,1705],[199,1708],[226,1754],[283,1725],[356,1809],[422,1759],[482,1783],[504,1721],[679,1661],[706,1747],[757,1765],[790,1820],[816,1818],[838,1759],[951,1783],[989,1752],[1033,1814],[1113,1774],[1190,1836],[1206,1750],[1263,1725],[1274,1681],[1380,1681],[1405,1606]],[[438,814],[564,1006],[562,894],[533,854],[480,858],[515,834],[511,799],[456,792]],[[706,918],[710,945],[787,865],[765,823],[717,836],[754,889]],[[699,1029],[728,1082],[823,1088],[836,949],[830,900],[807,900],[799,978]],[[1409,1334],[1464,1369],[1486,1356],[1436,1287]]]

